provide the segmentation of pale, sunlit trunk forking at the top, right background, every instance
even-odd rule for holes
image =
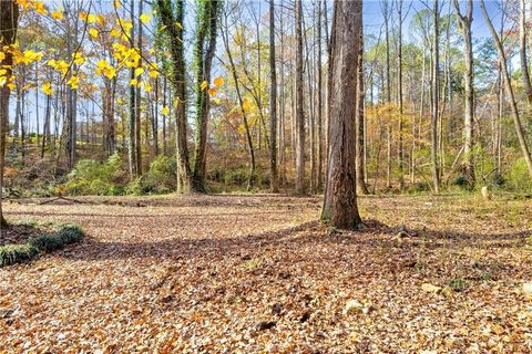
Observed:
[[[458,0],[453,0],[454,11],[463,38],[463,55],[466,61],[466,71],[463,73],[463,82],[466,87],[466,106],[463,114],[463,154],[466,177],[470,186],[474,185],[474,166],[472,159],[473,148],[473,117],[474,117],[474,91],[473,91],[473,44],[471,35],[471,23],[473,22],[473,1],[467,0],[468,7],[466,13],[460,11]]]

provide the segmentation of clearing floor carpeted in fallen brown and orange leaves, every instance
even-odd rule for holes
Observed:
[[[81,200],[4,206],[88,236],[0,269],[0,353],[532,352],[531,200],[362,197],[356,232],[313,197]]]

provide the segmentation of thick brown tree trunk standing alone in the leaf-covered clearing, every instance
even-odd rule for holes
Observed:
[[[321,219],[332,227],[355,229],[361,226],[357,207],[355,168],[355,119],[357,107],[359,27],[361,1],[335,1],[331,56],[331,94],[329,102],[329,147],[327,184]],[[355,64],[354,64],[355,63]]]

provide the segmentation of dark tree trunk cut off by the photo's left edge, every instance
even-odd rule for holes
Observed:
[[[16,0],[0,1],[0,45],[10,46],[16,43],[19,24],[19,6]],[[0,67],[6,70],[6,77],[11,77],[13,55],[6,51],[0,56]],[[11,79],[8,79],[11,80]],[[10,83],[4,82],[0,88],[0,229],[7,227],[2,210],[3,167],[6,165],[6,134],[9,124]]]

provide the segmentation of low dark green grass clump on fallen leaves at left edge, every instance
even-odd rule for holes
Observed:
[[[32,222],[33,225],[33,222]],[[37,227],[38,223],[34,223]],[[38,256],[61,249],[66,244],[80,241],[83,230],[72,223],[57,225],[50,233],[30,238],[23,244],[6,244],[0,247],[0,267],[32,260]]]

